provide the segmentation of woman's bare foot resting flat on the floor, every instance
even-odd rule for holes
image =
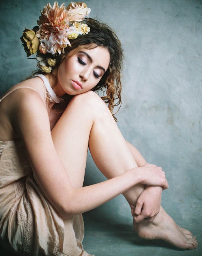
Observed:
[[[198,246],[191,232],[179,227],[162,207],[152,222],[135,223],[133,221],[133,228],[144,239],[162,239],[181,249],[192,250]]]

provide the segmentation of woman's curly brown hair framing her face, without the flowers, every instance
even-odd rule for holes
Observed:
[[[121,42],[117,38],[114,31],[112,31],[112,29],[105,23],[101,23],[98,20],[91,18],[86,18],[84,22],[88,25],[88,27],[90,27],[90,32],[85,35],[79,35],[79,37],[74,40],[70,40],[71,47],[66,47],[64,54],[56,56],[56,66],[52,69],[52,71],[58,68],[58,66],[62,63],[62,60],[65,57],[68,57],[68,54],[74,54],[75,52],[78,52],[80,48],[84,47],[90,49],[97,46],[107,48],[110,53],[109,67],[100,79],[99,83],[92,90],[106,91],[106,96],[102,96],[101,98],[104,100],[104,102],[108,103],[108,108],[114,116],[114,107],[118,105],[121,106],[122,86],[120,73],[123,61]],[[42,73],[42,71],[38,71],[38,73],[39,72]],[[117,121],[115,116],[114,119]]]

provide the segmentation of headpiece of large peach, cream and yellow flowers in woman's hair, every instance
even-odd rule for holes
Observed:
[[[46,4],[37,21],[38,26],[23,31],[21,41],[27,56],[37,53],[38,67],[50,73],[56,64],[54,57],[71,46],[69,39],[90,31],[87,24],[82,22],[89,13],[90,8],[82,2],[71,2],[67,7],[64,3],[59,7],[58,2],[54,2],[53,7],[50,3]]]

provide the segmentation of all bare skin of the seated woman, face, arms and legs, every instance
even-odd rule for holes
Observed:
[[[35,178],[62,218],[123,193],[141,237],[194,249],[198,243],[190,231],[177,226],[160,206],[162,188],[168,188],[164,171],[146,163],[125,141],[106,104],[90,91],[109,62],[108,50],[100,46],[83,48],[63,60],[54,71],[58,78],[54,91],[58,96],[75,96],[61,117],[51,109],[52,103],[47,104],[40,78],[15,85],[12,90],[18,90],[0,103],[0,139],[23,139]],[[108,180],[83,187],[88,147]]]

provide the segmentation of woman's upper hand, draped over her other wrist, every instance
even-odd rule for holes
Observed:
[[[165,173],[162,171],[161,167],[155,166],[154,164],[144,164],[142,167],[138,167],[137,171],[140,172],[142,184],[151,186],[160,186],[167,189],[168,183],[165,178]]]

